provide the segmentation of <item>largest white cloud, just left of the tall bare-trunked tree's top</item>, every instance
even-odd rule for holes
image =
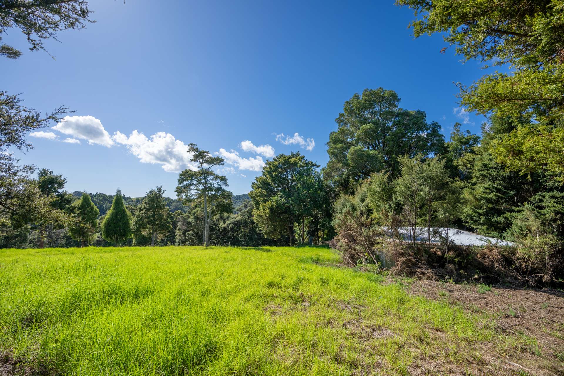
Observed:
[[[188,145],[174,138],[170,133],[157,132],[149,140],[143,133],[134,130],[129,136],[120,131],[112,137],[116,144],[125,145],[142,163],[157,163],[167,172],[179,172],[185,168],[196,170],[190,161]]]

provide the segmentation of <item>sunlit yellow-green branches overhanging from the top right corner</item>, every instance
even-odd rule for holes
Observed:
[[[421,15],[410,24],[415,37],[446,32],[444,40],[466,60],[510,65],[512,73],[487,74],[463,87],[462,104],[500,116],[564,115],[562,1],[396,0],[396,5]]]

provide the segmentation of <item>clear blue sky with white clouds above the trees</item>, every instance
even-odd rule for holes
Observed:
[[[453,84],[481,77],[481,65],[441,54],[440,36],[413,39],[412,12],[393,1],[90,4],[96,23],[45,43],[56,60],[16,30],[3,42],[24,55],[0,60],[3,90],[42,112],[75,111],[21,156],[63,174],[69,191],[138,197],[162,184],[174,197],[193,142],[225,156],[231,191],[246,193],[274,153],[325,165],[334,119],[365,88],[395,90],[446,135],[483,121],[455,110]]]

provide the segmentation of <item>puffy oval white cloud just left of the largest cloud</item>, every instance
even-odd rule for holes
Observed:
[[[99,144],[108,148],[113,145],[102,122],[94,116],[65,116],[63,121],[52,129],[73,136],[73,138],[88,140],[91,144]]]

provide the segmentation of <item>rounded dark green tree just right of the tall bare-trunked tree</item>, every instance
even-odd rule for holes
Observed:
[[[297,153],[279,154],[267,161],[262,175],[255,178],[249,197],[254,220],[268,237],[289,237],[294,244],[294,224],[302,220],[308,207],[308,179],[319,167]]]

